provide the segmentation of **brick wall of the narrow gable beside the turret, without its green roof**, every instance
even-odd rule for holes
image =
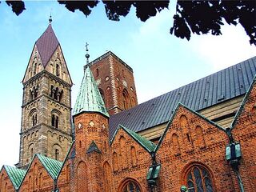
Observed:
[[[131,152],[132,147],[135,153]],[[117,154],[116,160],[114,153]],[[146,174],[151,165],[150,154],[126,131],[118,130],[110,146],[110,154],[113,171],[112,191],[121,191],[122,184],[129,179],[138,182],[142,191],[149,191]]]

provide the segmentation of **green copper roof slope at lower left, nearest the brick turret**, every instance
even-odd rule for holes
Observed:
[[[58,162],[52,158],[46,158],[41,154],[36,154],[42,165],[46,168],[47,172],[50,174],[50,177],[54,180],[58,177],[58,173],[62,169],[62,162]]]

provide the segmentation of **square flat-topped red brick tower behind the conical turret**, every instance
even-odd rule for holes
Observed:
[[[109,114],[138,105],[134,72],[118,56],[109,51],[90,62],[89,66]]]

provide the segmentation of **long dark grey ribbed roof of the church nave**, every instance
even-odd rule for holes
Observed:
[[[111,115],[110,138],[118,125],[138,132],[168,122],[178,102],[198,111],[246,94],[255,74],[256,57],[253,57],[134,108]]]

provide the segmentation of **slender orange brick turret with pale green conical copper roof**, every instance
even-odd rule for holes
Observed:
[[[106,162],[110,154],[108,119],[102,96],[87,66],[74,110],[76,183],[70,191],[102,191],[108,181]],[[86,180],[84,179],[86,178]],[[110,191],[105,189],[104,191]]]

